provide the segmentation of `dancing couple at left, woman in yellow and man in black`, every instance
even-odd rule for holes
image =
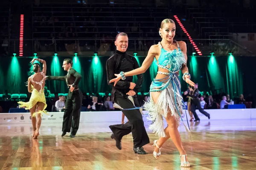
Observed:
[[[41,71],[39,61],[43,63],[43,70]],[[79,81],[81,80],[81,75],[72,68],[73,62],[71,59],[64,59],[62,67],[64,71],[67,71],[66,76],[46,76],[46,62],[43,59],[33,59],[31,61],[33,64],[34,74],[28,79],[28,91],[31,94],[29,102],[18,102],[20,107],[29,109],[31,113],[32,127],[33,127],[33,139],[37,139],[39,135],[39,128],[41,126],[41,116],[43,113],[47,114],[45,109],[47,108],[46,99],[44,96],[44,85],[45,80],[61,80],[67,83],[69,92],[67,95],[67,100],[65,104],[65,112],[63,116],[62,125],[62,135],[66,135],[70,132],[70,137],[75,137],[77,130],[79,128],[80,112],[82,105],[82,93],[79,90]],[[36,118],[36,117],[37,118]]]

